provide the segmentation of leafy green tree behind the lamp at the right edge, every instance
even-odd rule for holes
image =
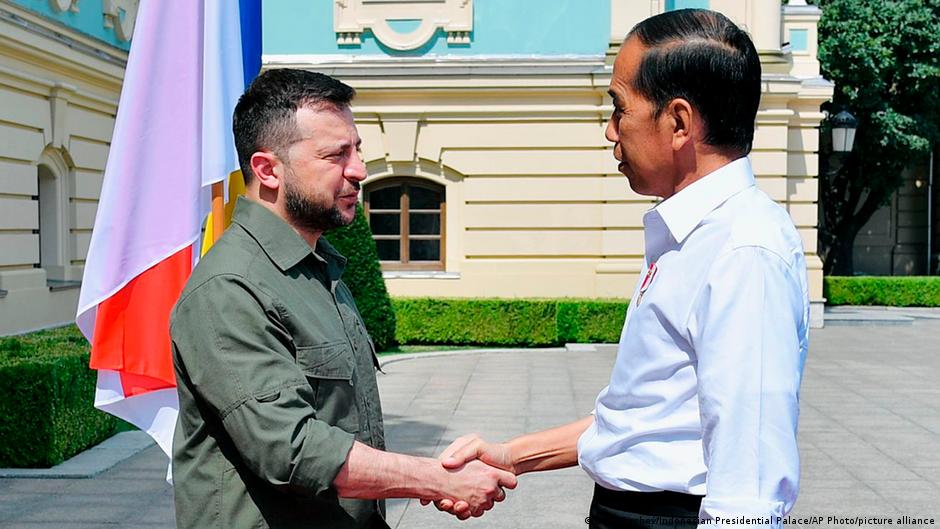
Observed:
[[[829,109],[858,118],[851,154],[821,152],[820,255],[827,275],[852,275],[859,230],[940,139],[940,0],[815,3],[819,62],[836,85]]]

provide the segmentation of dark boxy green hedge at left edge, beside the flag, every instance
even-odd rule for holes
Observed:
[[[50,467],[126,423],[94,408],[95,372],[75,326],[0,339],[0,467]]]

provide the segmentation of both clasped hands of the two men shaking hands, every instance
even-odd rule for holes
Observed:
[[[483,516],[506,498],[503,488],[516,488],[516,472],[509,447],[487,443],[477,435],[459,437],[439,456],[441,465],[467,492],[436,500],[438,510],[461,520]],[[427,505],[430,500],[421,500]]]

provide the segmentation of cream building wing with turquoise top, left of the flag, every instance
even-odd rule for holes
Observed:
[[[75,318],[136,9],[106,4],[0,0],[0,335]]]

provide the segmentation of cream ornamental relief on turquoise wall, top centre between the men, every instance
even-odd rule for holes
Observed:
[[[384,46],[413,50],[426,44],[438,29],[448,44],[469,44],[473,31],[473,0],[336,0],[333,30],[341,45],[362,43],[371,30]]]

